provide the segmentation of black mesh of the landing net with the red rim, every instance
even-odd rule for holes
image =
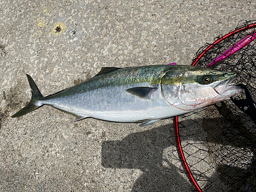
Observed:
[[[254,23],[243,21],[233,31]],[[223,40],[209,49],[196,66],[207,67],[255,30],[256,26]],[[200,48],[196,56],[209,45]],[[240,74],[234,83],[245,84],[256,101],[255,67],[256,39],[210,68]],[[236,96],[242,98],[244,93]],[[256,125],[230,99],[179,117],[179,127],[187,163],[203,191],[256,191]]]

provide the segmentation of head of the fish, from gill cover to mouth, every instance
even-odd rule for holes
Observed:
[[[196,110],[241,93],[241,87],[231,85],[238,77],[236,73],[202,67],[177,68],[162,77],[162,96],[177,109]]]

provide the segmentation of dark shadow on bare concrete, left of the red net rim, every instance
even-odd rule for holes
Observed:
[[[190,191],[190,183],[180,175],[175,165],[163,166],[163,150],[172,145],[168,141],[170,125],[132,133],[122,140],[102,143],[105,168],[140,169],[132,191]]]

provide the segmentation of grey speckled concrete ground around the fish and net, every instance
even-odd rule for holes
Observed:
[[[191,191],[167,138],[171,119],[139,127],[73,122],[50,106],[10,116],[30,99],[101,67],[176,62],[240,20],[255,1],[0,1],[0,191]]]

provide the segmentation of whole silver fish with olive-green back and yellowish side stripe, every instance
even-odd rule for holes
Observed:
[[[49,96],[42,96],[27,75],[30,102],[11,117],[26,115],[51,105],[74,116],[140,122],[140,126],[192,112],[243,92],[230,83],[232,72],[185,65],[152,65],[129,68],[105,67],[94,77]]]

